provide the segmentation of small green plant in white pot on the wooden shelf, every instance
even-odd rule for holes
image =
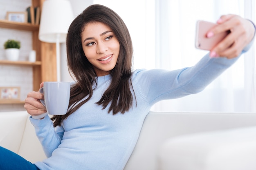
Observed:
[[[20,55],[20,41],[8,39],[4,42],[5,54],[8,60],[17,61]]]

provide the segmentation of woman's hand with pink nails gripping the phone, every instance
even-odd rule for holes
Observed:
[[[224,31],[229,31],[229,34],[211,50],[211,57],[237,57],[254,36],[253,24],[238,15],[223,15],[217,24],[207,33],[207,36],[211,35],[209,38]]]

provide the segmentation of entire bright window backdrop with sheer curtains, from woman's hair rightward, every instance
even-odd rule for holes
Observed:
[[[134,46],[134,69],[193,66],[207,54],[194,45],[197,20],[216,22],[221,15],[233,13],[255,22],[254,0],[94,0],[94,4],[110,7],[128,26]],[[159,102],[152,110],[256,111],[255,48],[203,92]]]

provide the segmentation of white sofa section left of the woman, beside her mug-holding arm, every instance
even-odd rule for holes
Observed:
[[[32,163],[46,158],[27,111],[0,112],[0,146]]]

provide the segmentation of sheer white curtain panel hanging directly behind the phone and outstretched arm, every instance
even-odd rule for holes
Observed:
[[[216,22],[221,15],[233,13],[255,21],[253,0],[156,0],[156,4],[157,68],[192,66],[207,53],[194,47],[196,20]],[[154,110],[256,111],[254,48],[203,92],[159,102]]]

